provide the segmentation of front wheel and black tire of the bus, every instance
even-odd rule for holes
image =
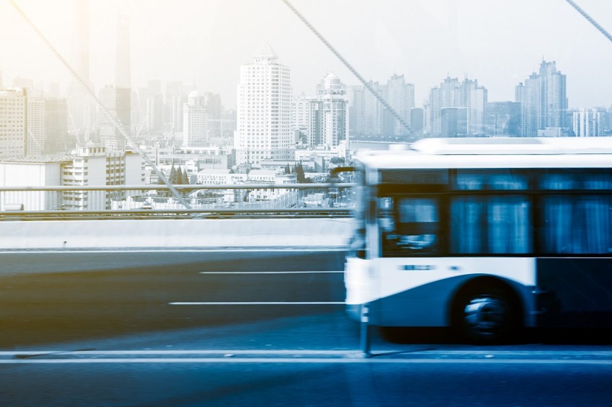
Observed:
[[[453,328],[461,339],[482,345],[508,342],[520,329],[520,303],[499,281],[468,284],[453,301]]]

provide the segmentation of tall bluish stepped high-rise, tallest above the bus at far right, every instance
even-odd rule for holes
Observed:
[[[515,88],[515,100],[521,104],[521,135],[537,136],[546,128],[565,129],[567,123],[566,79],[556,62],[542,61],[538,73],[532,73]]]

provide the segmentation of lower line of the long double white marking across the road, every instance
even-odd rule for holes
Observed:
[[[322,359],[322,358],[117,358],[117,359],[4,359],[0,364],[96,364],[96,363],[290,363],[290,364],[552,364],[612,365],[612,361],[575,359]]]

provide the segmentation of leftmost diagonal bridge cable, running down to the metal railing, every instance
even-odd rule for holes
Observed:
[[[84,87],[84,89],[87,90],[89,96],[95,101],[95,104],[98,106],[98,108],[102,110],[102,112],[105,114],[108,120],[110,120],[111,123],[113,123],[114,127],[116,127],[116,129],[119,130],[119,133],[121,133],[121,135],[125,138],[125,140],[127,140],[127,142],[132,146],[132,148],[136,150],[138,154],[140,154],[144,162],[148,166],[152,167],[152,169],[154,169],[157,176],[160,178],[160,180],[163,181],[163,183],[165,183],[166,186],[168,186],[168,188],[170,189],[174,197],[176,197],[176,199],[179,200],[179,202],[181,202],[181,204],[184,205],[185,208],[189,209],[190,206],[187,203],[187,200],[185,200],[184,197],[181,196],[179,191],[176,188],[174,188],[174,186],[168,181],[168,178],[166,178],[165,175],[163,175],[163,172],[160,171],[159,168],[157,168],[157,166],[153,163],[153,161],[151,161],[147,153],[141,150],[140,147],[138,147],[138,144],[136,143],[135,139],[133,139],[132,136],[130,136],[130,134],[127,131],[125,131],[125,128],[123,124],[121,123],[121,120],[118,117],[116,117],[116,115],[113,115],[106,108],[106,106],[104,106],[102,101],[100,101],[100,99],[97,96],[95,96],[94,91],[89,88],[89,84],[86,84],[83,78],[81,78],[81,76],[79,76],[78,73],[76,73],[76,71],[72,68],[72,66],[70,66],[70,64],[64,59],[64,57],[62,57],[59,51],[56,50],[56,48],[53,46],[53,44],[51,44],[51,42],[47,39],[47,37],[45,37],[45,34],[43,34],[37,28],[37,26],[35,26],[35,24],[28,18],[26,13],[24,13],[23,10],[21,10],[21,8],[15,3],[15,0],[9,0],[9,2],[10,4],[12,4],[13,8],[17,11],[17,13],[21,15],[21,17],[26,21],[26,23],[32,28],[32,30],[34,30],[34,32],[40,37],[40,39],[45,43],[45,45],[47,45],[47,47],[51,50],[51,52],[60,60],[60,62],[64,65],[64,67],[70,72],[70,74],[74,76],[74,78],[79,82],[79,84],[81,84],[81,86]],[[146,189],[146,188],[143,188],[143,189]]]

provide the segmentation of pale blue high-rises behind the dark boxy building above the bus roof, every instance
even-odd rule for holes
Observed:
[[[487,89],[478,86],[476,79],[465,78],[459,82],[457,78],[447,77],[439,86],[430,90],[431,133],[442,134],[442,108],[467,108],[468,134],[484,133],[486,103]]]

